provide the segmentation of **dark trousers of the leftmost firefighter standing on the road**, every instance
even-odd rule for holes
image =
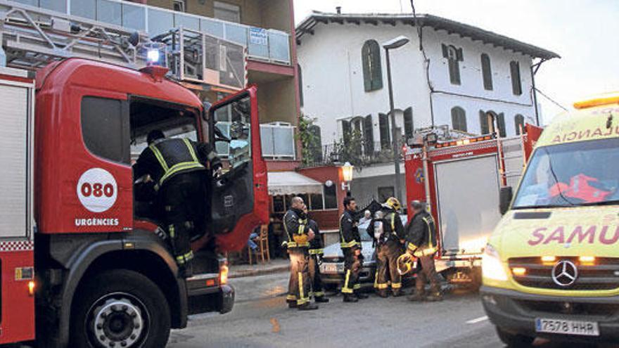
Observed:
[[[288,281],[287,302],[297,302],[297,305],[309,302],[312,283],[309,280],[309,252],[305,247],[288,249],[291,262],[291,277]]]

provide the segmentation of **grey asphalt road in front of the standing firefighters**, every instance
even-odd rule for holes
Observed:
[[[286,273],[234,279],[233,311],[192,316],[168,347],[503,347],[476,294],[422,304],[374,295],[349,304],[333,295],[317,311],[298,311],[281,296],[287,282]]]

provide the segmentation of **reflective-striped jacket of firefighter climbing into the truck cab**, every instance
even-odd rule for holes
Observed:
[[[166,138],[153,141],[142,151],[133,166],[134,179],[149,174],[158,190],[172,176],[221,167],[221,162],[207,143],[187,138]]]

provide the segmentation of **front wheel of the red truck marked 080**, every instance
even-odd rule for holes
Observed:
[[[165,347],[170,307],[146,276],[126,269],[104,271],[75,294],[69,347]]]

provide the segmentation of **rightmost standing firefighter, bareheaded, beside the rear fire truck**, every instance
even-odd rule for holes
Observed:
[[[417,278],[415,292],[409,297],[411,301],[440,301],[442,294],[434,265],[437,252],[436,228],[432,215],[419,200],[411,202],[414,216],[407,226],[407,252],[416,257]],[[430,294],[426,295],[426,281],[430,282]]]

